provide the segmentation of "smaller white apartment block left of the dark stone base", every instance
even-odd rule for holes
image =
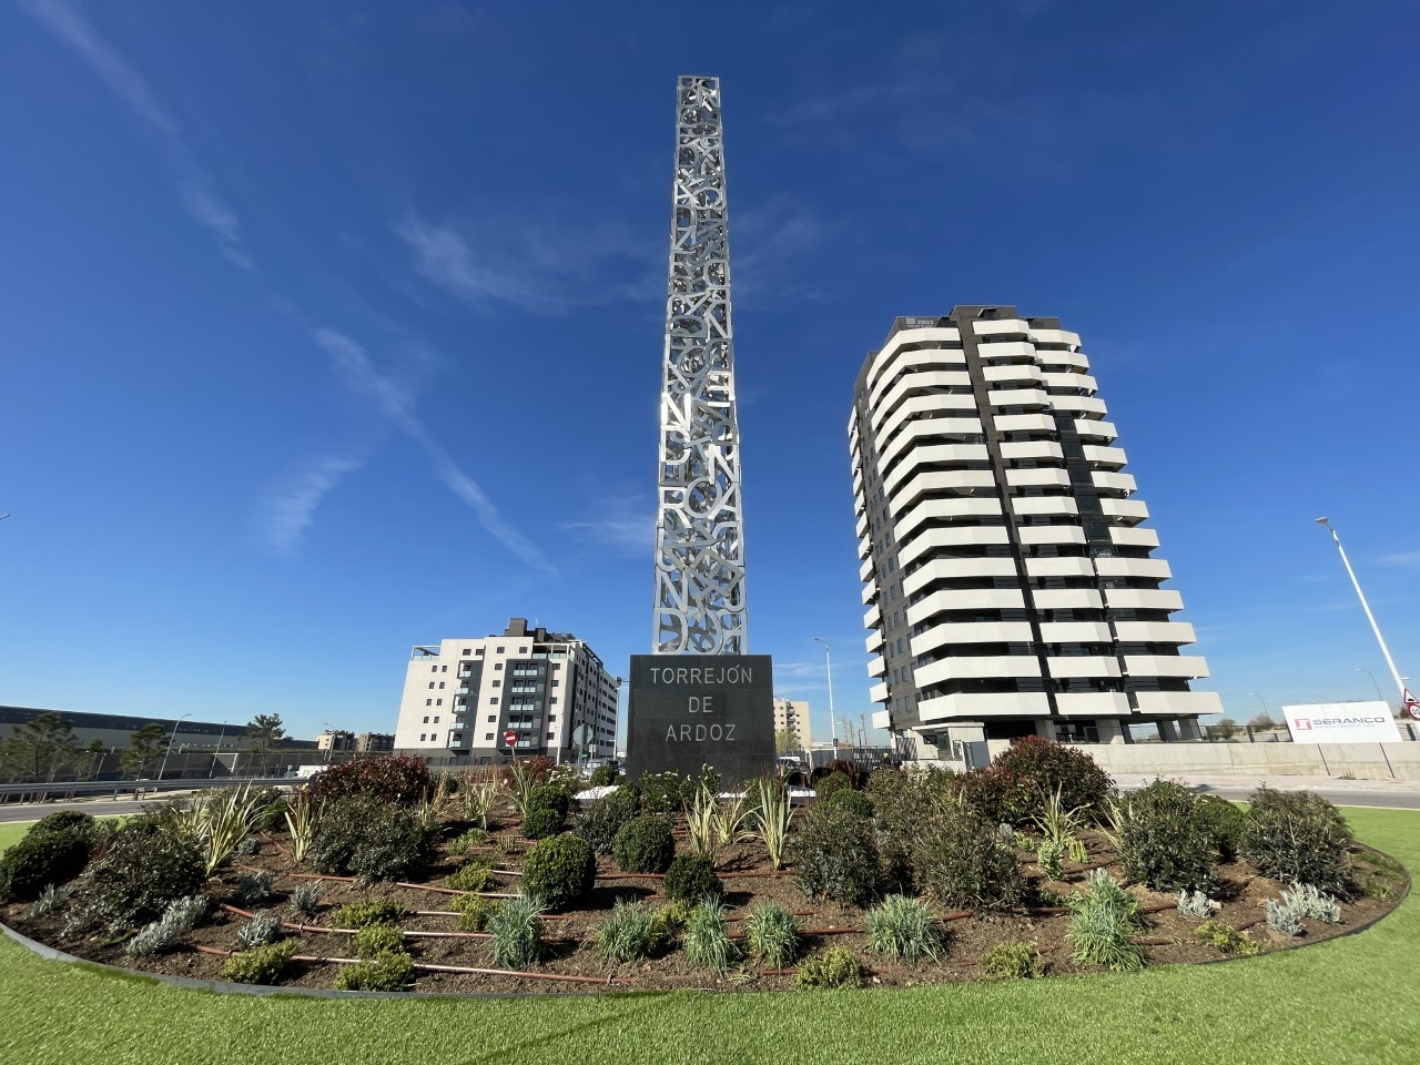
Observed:
[[[518,757],[611,757],[618,686],[585,642],[513,618],[501,636],[413,649],[395,750],[483,765],[510,753],[504,734],[513,731]]]

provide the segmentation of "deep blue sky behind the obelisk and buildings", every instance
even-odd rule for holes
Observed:
[[[750,639],[868,674],[896,315],[1082,334],[1228,713],[1420,677],[1406,3],[0,1],[0,703],[392,730],[649,649],[674,78],[721,78]],[[1252,694],[1257,693],[1257,694]],[[1389,694],[1389,692],[1387,692]]]

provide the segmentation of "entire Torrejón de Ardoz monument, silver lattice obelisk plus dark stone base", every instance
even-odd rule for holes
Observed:
[[[771,771],[774,676],[747,653],[719,78],[676,85],[652,650],[630,659],[626,772]]]

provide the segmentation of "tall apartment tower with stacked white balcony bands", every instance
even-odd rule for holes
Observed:
[[[1179,592],[1079,337],[1014,307],[897,318],[848,423],[863,623],[905,747],[1196,738]],[[930,751],[916,757],[930,757]]]

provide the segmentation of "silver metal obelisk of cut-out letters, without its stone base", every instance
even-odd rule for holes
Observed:
[[[682,77],[660,395],[657,655],[748,652],[728,229],[720,80]]]

